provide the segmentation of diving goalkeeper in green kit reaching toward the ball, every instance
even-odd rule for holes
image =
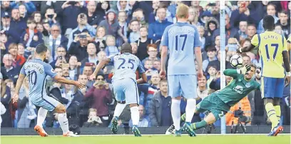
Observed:
[[[233,77],[233,80],[228,83],[228,86],[220,91],[210,94],[203,99],[196,106],[195,113],[204,113],[209,111],[210,113],[204,118],[204,120],[198,123],[192,123],[193,130],[205,127],[215,123],[225,113],[228,113],[231,106],[238,103],[242,98],[247,96],[253,90],[260,90],[260,83],[257,83],[252,76],[255,74],[256,66],[254,64],[245,65],[240,69],[226,69],[223,71],[225,76]],[[181,116],[181,121],[185,121],[185,114]],[[168,128],[166,134],[173,133],[174,126],[171,125]]]

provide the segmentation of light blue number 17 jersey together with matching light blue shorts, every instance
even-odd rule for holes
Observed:
[[[196,98],[197,77],[194,52],[201,46],[198,29],[186,22],[168,26],[162,37],[161,46],[168,47],[169,96]]]

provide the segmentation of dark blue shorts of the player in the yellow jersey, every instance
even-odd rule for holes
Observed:
[[[284,90],[284,78],[262,77],[262,98],[282,98]]]

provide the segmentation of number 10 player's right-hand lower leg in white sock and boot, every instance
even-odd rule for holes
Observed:
[[[63,130],[63,136],[65,137],[78,137],[73,132],[68,130],[68,118],[66,115],[66,107],[59,103],[55,108],[56,113],[58,113],[58,123],[61,125],[61,130]]]

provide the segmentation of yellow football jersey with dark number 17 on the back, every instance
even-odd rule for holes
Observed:
[[[251,43],[259,47],[262,76],[284,78],[282,51],[287,51],[286,38],[275,31],[265,31],[253,36]]]

